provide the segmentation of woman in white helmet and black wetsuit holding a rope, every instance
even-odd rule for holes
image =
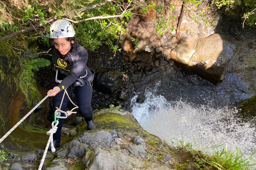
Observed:
[[[63,80],[58,80],[59,84],[56,83],[47,94],[54,96],[54,113],[56,107],[60,107],[64,89],[70,94],[71,85],[74,85],[79,113],[85,118],[87,128],[91,130],[96,128],[91,109],[94,71],[86,67],[88,52],[75,41],[74,35],[75,30],[72,24],[65,19],[59,19],[50,26],[49,44],[53,49],[52,61],[61,73],[58,79],[62,77]],[[60,110],[65,111],[68,100],[68,96],[65,95]],[[60,146],[62,125],[63,119],[59,119],[58,129],[53,134],[53,143],[56,148]]]

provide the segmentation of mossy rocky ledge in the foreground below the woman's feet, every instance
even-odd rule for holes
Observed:
[[[102,109],[94,113],[97,128],[87,130],[85,121],[75,127],[74,138],[47,152],[45,170],[170,170],[177,166],[193,169],[192,154],[176,149],[149,134],[133,115],[122,109]],[[4,149],[4,148],[2,148]],[[43,148],[42,148],[43,149]],[[37,169],[43,150],[31,153],[13,153],[7,149],[9,161],[1,164],[10,170]],[[1,167],[0,167],[1,169]]]

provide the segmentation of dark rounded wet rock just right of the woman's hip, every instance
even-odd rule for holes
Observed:
[[[119,88],[122,79],[123,74],[116,70],[100,72],[96,77],[96,87],[102,92],[113,93]]]

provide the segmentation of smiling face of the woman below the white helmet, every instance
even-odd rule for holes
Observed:
[[[53,39],[54,46],[62,55],[66,55],[66,53],[69,52],[71,48],[71,43],[74,44],[74,41],[72,40],[67,41],[65,38],[55,38]]]

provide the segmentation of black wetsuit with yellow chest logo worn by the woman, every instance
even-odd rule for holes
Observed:
[[[51,43],[50,43],[51,45]],[[51,46],[53,49],[53,57],[52,61],[55,68],[58,69],[58,80],[62,80],[60,84],[54,83],[54,86],[58,86],[60,88],[60,92],[53,97],[53,114],[56,110],[56,107],[60,107],[60,103],[62,101],[64,89],[67,90],[68,94],[71,93],[71,85],[74,82],[78,82],[80,80],[84,81],[85,84],[83,86],[75,86],[75,94],[76,100],[78,102],[78,110],[82,117],[85,118],[86,121],[92,120],[92,109],[91,109],[91,97],[92,97],[92,80],[94,78],[94,71],[90,70],[86,67],[86,63],[88,60],[88,52],[84,47],[80,44],[73,44],[73,57],[72,62],[73,65],[70,65],[69,61],[64,62],[64,57],[54,46]],[[86,74],[84,78],[83,77]],[[67,102],[69,101],[68,96],[65,95],[62,107],[60,108],[62,111],[66,111]],[[53,140],[60,142],[61,137],[61,129],[63,125],[63,119],[59,119],[59,124],[57,125],[58,129],[53,134]]]

